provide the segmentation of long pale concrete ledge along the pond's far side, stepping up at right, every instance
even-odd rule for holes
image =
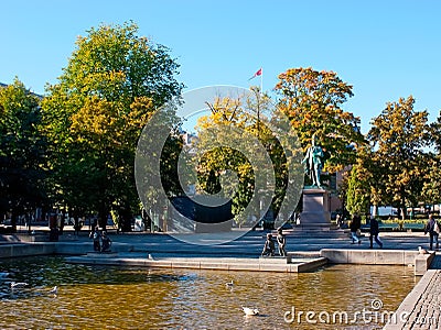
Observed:
[[[365,265],[410,265],[415,275],[423,275],[430,267],[434,252],[420,254],[417,251],[405,250],[343,250],[323,249],[319,257],[159,257],[149,258],[148,255],[137,256],[131,253],[109,254],[89,253],[82,256],[66,257],[71,263],[106,264],[106,265],[136,265],[146,267],[196,268],[223,271],[254,271],[254,272],[312,272],[326,264],[365,264]]]

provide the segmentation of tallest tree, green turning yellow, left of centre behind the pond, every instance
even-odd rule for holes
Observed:
[[[132,22],[93,28],[76,45],[42,103],[53,194],[72,209],[97,211],[100,227],[110,208],[127,222],[139,208],[137,141],[154,109],[180,95],[179,65]]]

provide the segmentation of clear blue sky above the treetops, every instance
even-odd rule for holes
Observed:
[[[353,85],[344,109],[370,120],[386,102],[412,95],[430,121],[441,109],[441,1],[1,1],[0,82],[14,77],[44,95],[99,24],[132,20],[139,34],[168,46],[186,89],[249,87],[260,67],[263,90],[294,67],[333,70]]]

